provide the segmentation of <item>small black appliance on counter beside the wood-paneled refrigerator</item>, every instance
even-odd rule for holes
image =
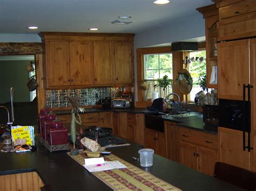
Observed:
[[[203,121],[206,124],[219,125],[219,105],[207,105],[203,107]]]

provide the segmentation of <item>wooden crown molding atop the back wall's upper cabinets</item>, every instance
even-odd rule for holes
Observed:
[[[45,40],[78,40],[78,41],[133,41],[132,33],[82,33],[82,32],[41,32],[38,34]]]

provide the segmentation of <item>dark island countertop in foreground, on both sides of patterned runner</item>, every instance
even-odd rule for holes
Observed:
[[[50,153],[38,142],[36,145],[38,151],[34,152],[0,152],[0,175],[36,171],[52,190],[111,190],[65,151]],[[139,161],[131,158],[138,157],[139,149],[140,145],[133,143],[130,146],[108,148],[118,157],[182,190],[242,190],[156,154],[152,167],[140,167]]]

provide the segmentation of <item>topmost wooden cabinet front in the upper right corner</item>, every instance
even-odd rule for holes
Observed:
[[[256,2],[240,2],[219,9],[219,20],[244,15],[256,11]]]

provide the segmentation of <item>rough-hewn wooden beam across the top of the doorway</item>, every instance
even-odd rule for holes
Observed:
[[[33,55],[42,53],[42,43],[0,43],[0,55]]]

